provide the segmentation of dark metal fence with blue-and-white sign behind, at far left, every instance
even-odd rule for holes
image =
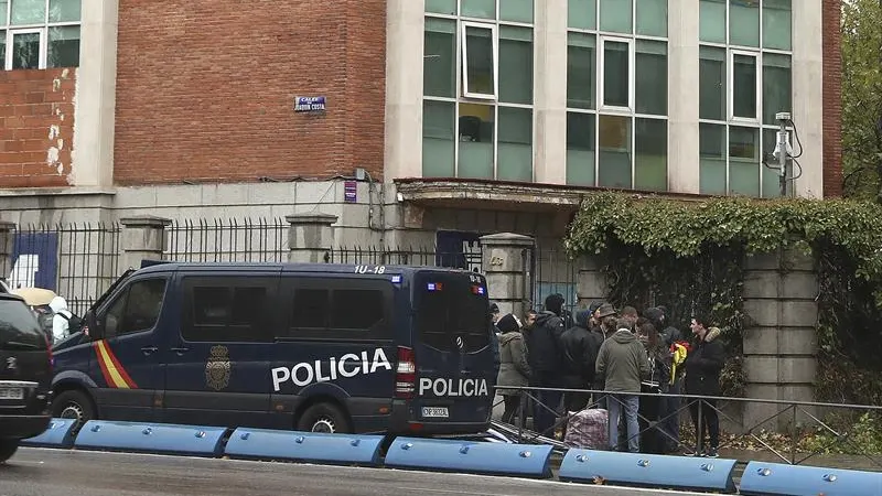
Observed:
[[[11,289],[53,289],[83,314],[119,274],[120,233],[116,223],[19,227],[12,233],[14,265],[3,276]]]

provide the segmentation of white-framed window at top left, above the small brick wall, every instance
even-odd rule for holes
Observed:
[[[79,65],[80,0],[0,0],[0,68]]]

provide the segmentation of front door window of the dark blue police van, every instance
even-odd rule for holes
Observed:
[[[162,300],[165,296],[165,279],[136,281],[123,290],[104,315],[104,337],[148,331],[157,325]]]

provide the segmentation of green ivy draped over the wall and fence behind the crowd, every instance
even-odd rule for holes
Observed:
[[[688,330],[696,313],[723,331],[729,395],[740,373],[743,260],[796,248],[819,278],[819,399],[880,403],[882,386],[849,384],[882,370],[882,207],[843,200],[678,201],[604,192],[588,195],[570,225],[570,256],[598,258],[617,305],[665,304]],[[856,375],[857,374],[857,375]]]

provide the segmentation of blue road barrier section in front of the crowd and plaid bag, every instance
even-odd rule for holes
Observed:
[[[560,464],[564,482],[599,482],[666,489],[735,489],[735,460],[571,449]]]

